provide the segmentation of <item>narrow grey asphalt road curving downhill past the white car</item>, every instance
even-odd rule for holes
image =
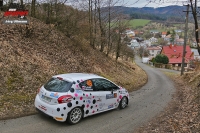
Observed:
[[[141,63],[139,58],[136,63],[146,71],[148,83],[130,93],[127,108],[90,116],[73,126],[39,114],[3,120],[0,133],[133,133],[163,111],[175,92],[173,82],[159,69]]]

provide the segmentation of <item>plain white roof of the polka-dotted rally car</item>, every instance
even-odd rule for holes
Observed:
[[[63,78],[64,80],[71,81],[71,82],[73,81],[77,82],[77,80],[84,81],[84,80],[92,79],[92,78],[103,78],[99,75],[92,74],[92,73],[67,73],[67,74],[55,75],[53,77],[60,77],[60,78]]]

